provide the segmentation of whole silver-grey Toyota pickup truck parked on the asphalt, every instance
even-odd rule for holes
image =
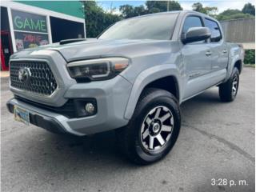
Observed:
[[[179,105],[212,87],[238,93],[242,47],[214,18],[193,11],[115,23],[98,38],[22,50],[10,58],[14,118],[58,133],[116,130],[124,154],[148,164],[174,146]]]

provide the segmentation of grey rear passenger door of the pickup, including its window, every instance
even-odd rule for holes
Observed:
[[[205,18],[205,26],[208,27],[211,31],[210,37],[210,50],[211,50],[211,59],[212,66],[211,70],[223,70],[226,69],[228,62],[228,51],[226,43],[222,38],[222,31],[218,26],[218,22],[211,20],[210,18]]]

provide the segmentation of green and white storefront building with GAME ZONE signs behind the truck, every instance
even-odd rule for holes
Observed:
[[[1,70],[8,70],[10,55],[18,50],[86,38],[82,2],[2,1]]]

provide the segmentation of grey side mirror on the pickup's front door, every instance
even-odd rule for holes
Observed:
[[[199,42],[210,38],[210,29],[208,27],[191,27],[182,38],[184,44],[189,42]]]

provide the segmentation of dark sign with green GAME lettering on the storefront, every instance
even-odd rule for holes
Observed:
[[[11,10],[14,30],[47,33],[46,16]]]

